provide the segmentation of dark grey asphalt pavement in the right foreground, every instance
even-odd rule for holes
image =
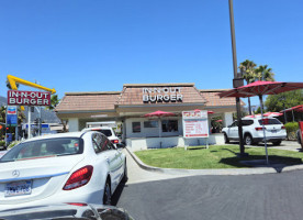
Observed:
[[[126,184],[117,207],[138,220],[302,220],[303,170]]]

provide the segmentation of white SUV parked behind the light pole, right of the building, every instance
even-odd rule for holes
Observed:
[[[243,136],[246,145],[257,144],[263,142],[263,128],[262,119],[256,118],[243,118]],[[274,145],[280,145],[282,140],[287,139],[285,127],[274,118],[263,118],[266,140],[272,142]],[[238,141],[238,122],[234,121],[229,127],[222,130],[224,134],[225,143],[231,140]]]

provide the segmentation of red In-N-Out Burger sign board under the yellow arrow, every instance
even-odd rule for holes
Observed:
[[[50,106],[50,92],[47,91],[8,91],[8,105]]]

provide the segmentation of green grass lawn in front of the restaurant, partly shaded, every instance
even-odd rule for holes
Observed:
[[[240,161],[265,160],[265,147],[246,147],[249,154],[246,158],[238,158],[239,146],[214,145],[192,146],[184,151],[182,147],[158,148],[135,152],[135,154],[147,165],[162,168],[244,168]],[[303,153],[268,148],[269,160],[285,165],[302,164]]]

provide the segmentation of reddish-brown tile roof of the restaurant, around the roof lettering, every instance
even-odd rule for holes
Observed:
[[[235,98],[220,98],[217,94],[227,89],[198,90],[194,84],[126,84],[123,91],[67,92],[55,111],[114,110],[115,106],[165,106],[166,102],[144,103],[143,88],[179,87],[182,103],[205,103],[206,107],[235,107]],[[154,94],[154,92],[153,92]],[[175,102],[180,103],[180,102]],[[244,102],[242,102],[244,105]]]

